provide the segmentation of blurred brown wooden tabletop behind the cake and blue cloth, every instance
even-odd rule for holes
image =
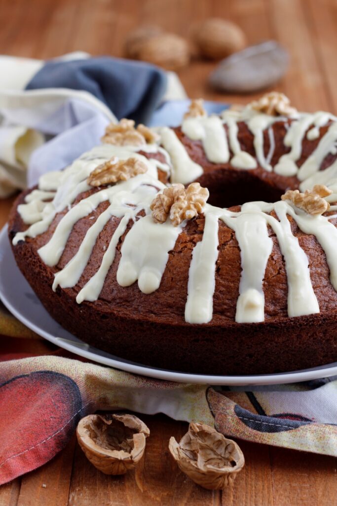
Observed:
[[[287,72],[269,89],[285,93],[300,110],[337,112],[335,0],[3,0],[0,9],[0,53],[38,59],[78,50],[122,57],[128,35],[139,26],[159,27],[190,43],[195,25],[206,18],[232,21],[244,46],[272,39],[289,54]],[[189,97],[247,103],[261,94],[212,88],[208,79],[219,58],[194,53],[192,48],[190,62],[177,69]]]

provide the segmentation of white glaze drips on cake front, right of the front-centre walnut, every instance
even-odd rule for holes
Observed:
[[[337,198],[337,182],[336,182]],[[337,206],[336,206],[337,208]],[[274,211],[278,219],[270,213]],[[212,298],[215,286],[215,264],[218,256],[218,230],[214,218],[222,220],[235,232],[242,259],[242,274],[239,284],[239,297],[236,304],[235,321],[252,323],[264,321],[263,279],[273,241],[267,225],[275,233],[281,254],[284,258],[288,283],[288,316],[302,316],[319,312],[310,279],[308,258],[301,248],[298,238],[292,233],[287,215],[292,216],[305,233],[316,235],[327,258],[331,272],[331,284],[337,288],[337,260],[332,251],[336,247],[337,231],[329,222],[330,217],[312,217],[289,202],[275,204],[249,202],[239,213],[206,205],[204,237],[195,246],[188,277],[188,296],[185,319],[189,323],[207,323],[212,316]],[[209,216],[212,220],[209,220]],[[317,220],[318,218],[318,220]],[[320,222],[320,223],[318,223]],[[324,227],[321,225],[324,224]],[[202,251],[204,254],[202,254]]]

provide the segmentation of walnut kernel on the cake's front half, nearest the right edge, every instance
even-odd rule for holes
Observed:
[[[303,209],[309,215],[322,215],[326,213],[330,204],[324,197],[331,195],[331,190],[325,185],[315,185],[312,190],[300,193],[299,190],[287,190],[281,200],[290,200],[296,207]]]

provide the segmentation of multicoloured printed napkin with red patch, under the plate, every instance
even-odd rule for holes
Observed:
[[[13,353],[4,356],[5,340],[38,336],[2,306],[0,333],[0,484],[53,458],[79,419],[97,410],[161,412],[226,436],[337,456],[337,377],[254,391],[172,383],[64,350],[20,358],[13,344]]]

